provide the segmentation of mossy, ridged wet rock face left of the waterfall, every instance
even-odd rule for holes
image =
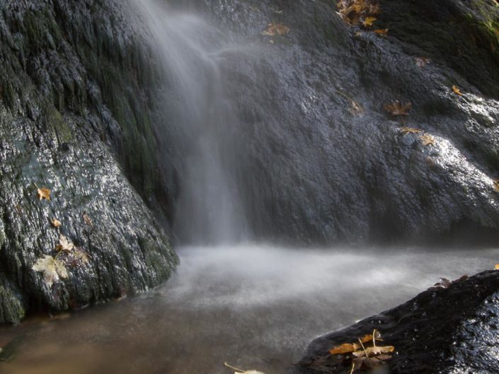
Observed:
[[[147,290],[178,261],[143,200],[161,190],[154,67],[130,24],[121,1],[0,4],[0,323]],[[49,287],[31,267],[59,232],[91,259]]]

